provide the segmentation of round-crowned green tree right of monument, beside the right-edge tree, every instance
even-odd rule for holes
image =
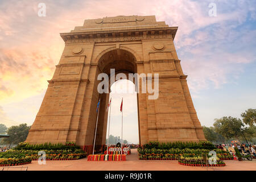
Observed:
[[[242,127],[243,125],[241,119],[233,117],[222,117],[220,119],[214,119],[213,126],[215,131],[221,134],[225,139],[231,139],[242,136]]]

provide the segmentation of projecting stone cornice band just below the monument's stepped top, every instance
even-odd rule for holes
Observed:
[[[105,43],[105,42],[129,42],[151,39],[174,40],[177,27],[141,28],[132,30],[98,30],[86,32],[61,33],[66,44],[69,43]]]

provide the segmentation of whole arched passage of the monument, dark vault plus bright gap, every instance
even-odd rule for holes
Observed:
[[[120,137],[121,139],[122,121],[120,106],[123,97],[123,140],[127,140],[129,143],[140,143],[138,94],[135,92],[134,80],[133,82],[126,80],[126,78],[129,78],[129,73],[137,73],[135,56],[125,49],[110,50],[98,59],[98,69],[100,69],[100,73],[106,73],[108,75],[108,89],[109,92],[112,92],[99,94],[102,103],[100,104],[98,115],[95,150],[102,150],[102,146],[106,144],[106,138],[108,138],[109,111],[107,113],[106,108],[108,107],[110,98],[112,98],[112,111],[110,114],[109,134],[114,135],[114,137]],[[110,82],[110,69],[114,69],[114,82]],[[126,78],[122,77],[122,80],[115,80],[118,73],[123,73]],[[121,87],[123,88],[122,90]],[[127,92],[123,92],[124,90]],[[122,93],[118,93],[121,91]],[[129,108],[131,109],[129,110]]]

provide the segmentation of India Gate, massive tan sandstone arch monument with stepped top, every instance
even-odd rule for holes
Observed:
[[[86,19],[61,33],[65,48],[26,141],[91,148],[100,99],[96,148],[105,144],[109,93],[98,92],[97,77],[110,75],[110,69],[115,74],[159,74],[157,99],[137,93],[140,144],[205,140],[175,50],[176,32],[177,27],[157,22],[155,16],[134,15]]]

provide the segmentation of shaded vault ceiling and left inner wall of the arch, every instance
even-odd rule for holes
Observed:
[[[110,87],[113,83],[110,82],[110,69],[115,69],[115,75],[118,73],[124,73],[126,78],[128,78],[129,73],[137,72],[137,59],[133,55],[133,53],[127,51],[127,48],[108,48],[107,50],[102,51],[103,54],[100,54],[97,59],[97,65],[100,73],[106,73],[109,76],[109,88],[108,91],[110,93]],[[115,77],[114,75],[114,77]],[[114,78],[115,79],[115,78]],[[115,81],[115,80],[114,80]],[[106,107],[109,102],[109,93],[98,94],[98,97],[101,99],[100,109],[99,109],[99,117],[98,117],[98,126],[97,126],[97,134],[96,134],[96,151],[100,150],[101,146],[105,144],[106,141],[106,127],[108,122],[108,113],[106,113]],[[139,117],[138,117],[139,118]],[[92,126],[95,125],[94,121],[92,122]],[[139,124],[139,121],[138,121]],[[90,131],[87,129],[86,131]],[[94,136],[94,135],[93,135]],[[86,143],[91,143],[92,138],[87,138],[89,141]]]

